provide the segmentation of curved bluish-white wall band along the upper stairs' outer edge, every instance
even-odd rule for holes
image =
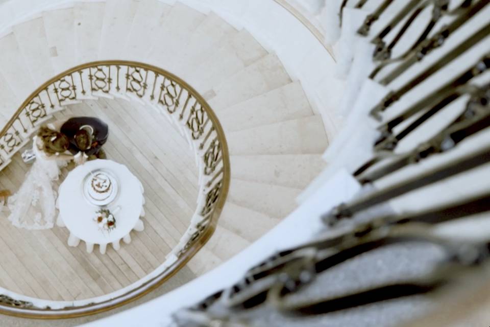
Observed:
[[[100,0],[85,0],[100,2]],[[160,0],[174,4],[176,0]],[[103,1],[102,1],[103,2]],[[322,115],[332,138],[340,121],[334,114],[344,83],[333,77],[335,61],[295,16],[273,0],[181,0],[189,7],[213,11],[236,28],[246,28],[270,52],[275,52],[292,79],[301,81],[313,110]],[[42,11],[63,8],[69,0],[10,0],[0,5],[0,36],[10,27]]]

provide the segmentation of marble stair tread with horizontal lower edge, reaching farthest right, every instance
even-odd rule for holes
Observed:
[[[318,115],[230,132],[226,138],[230,155],[316,154],[328,146]]]

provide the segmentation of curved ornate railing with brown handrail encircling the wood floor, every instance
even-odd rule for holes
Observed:
[[[29,298],[0,294],[0,313],[30,318],[71,318],[125,305],[160,286],[181,269],[211,237],[230,184],[230,161],[225,133],[204,98],[179,77],[149,64],[108,60],[85,63],[53,77],[21,104],[0,132],[0,170],[30,140],[52,113],[69,104],[97,97],[143,101],[176,124],[198,158],[200,190],[197,209],[179,244],[167,255],[154,277],[111,298],[88,304],[70,301],[60,308],[36,306]],[[138,284],[135,283],[135,284]],[[1,290],[0,290],[1,292]],[[105,297],[110,296],[107,295]],[[89,299],[92,300],[92,299]],[[56,302],[56,301],[51,301]],[[89,301],[84,300],[84,303]]]

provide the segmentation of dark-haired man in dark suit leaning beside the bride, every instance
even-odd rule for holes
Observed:
[[[102,145],[107,142],[109,127],[95,117],[74,117],[61,126],[60,132],[68,136],[72,154],[83,152],[89,159],[106,159]]]

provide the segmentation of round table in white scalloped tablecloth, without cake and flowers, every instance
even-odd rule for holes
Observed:
[[[116,198],[104,206],[114,212],[116,219],[116,227],[110,231],[101,229],[94,221],[95,212],[102,207],[91,204],[83,195],[83,181],[97,169],[109,171],[118,182]],[[99,244],[100,252],[104,254],[107,244],[111,243],[118,250],[121,239],[125,243],[131,242],[131,230],[144,228],[140,220],[144,216],[143,186],[126,166],[112,160],[97,159],[78,166],[61,183],[58,194],[57,225],[70,231],[69,246],[78,246],[83,240],[88,252],[92,252],[94,244]]]

